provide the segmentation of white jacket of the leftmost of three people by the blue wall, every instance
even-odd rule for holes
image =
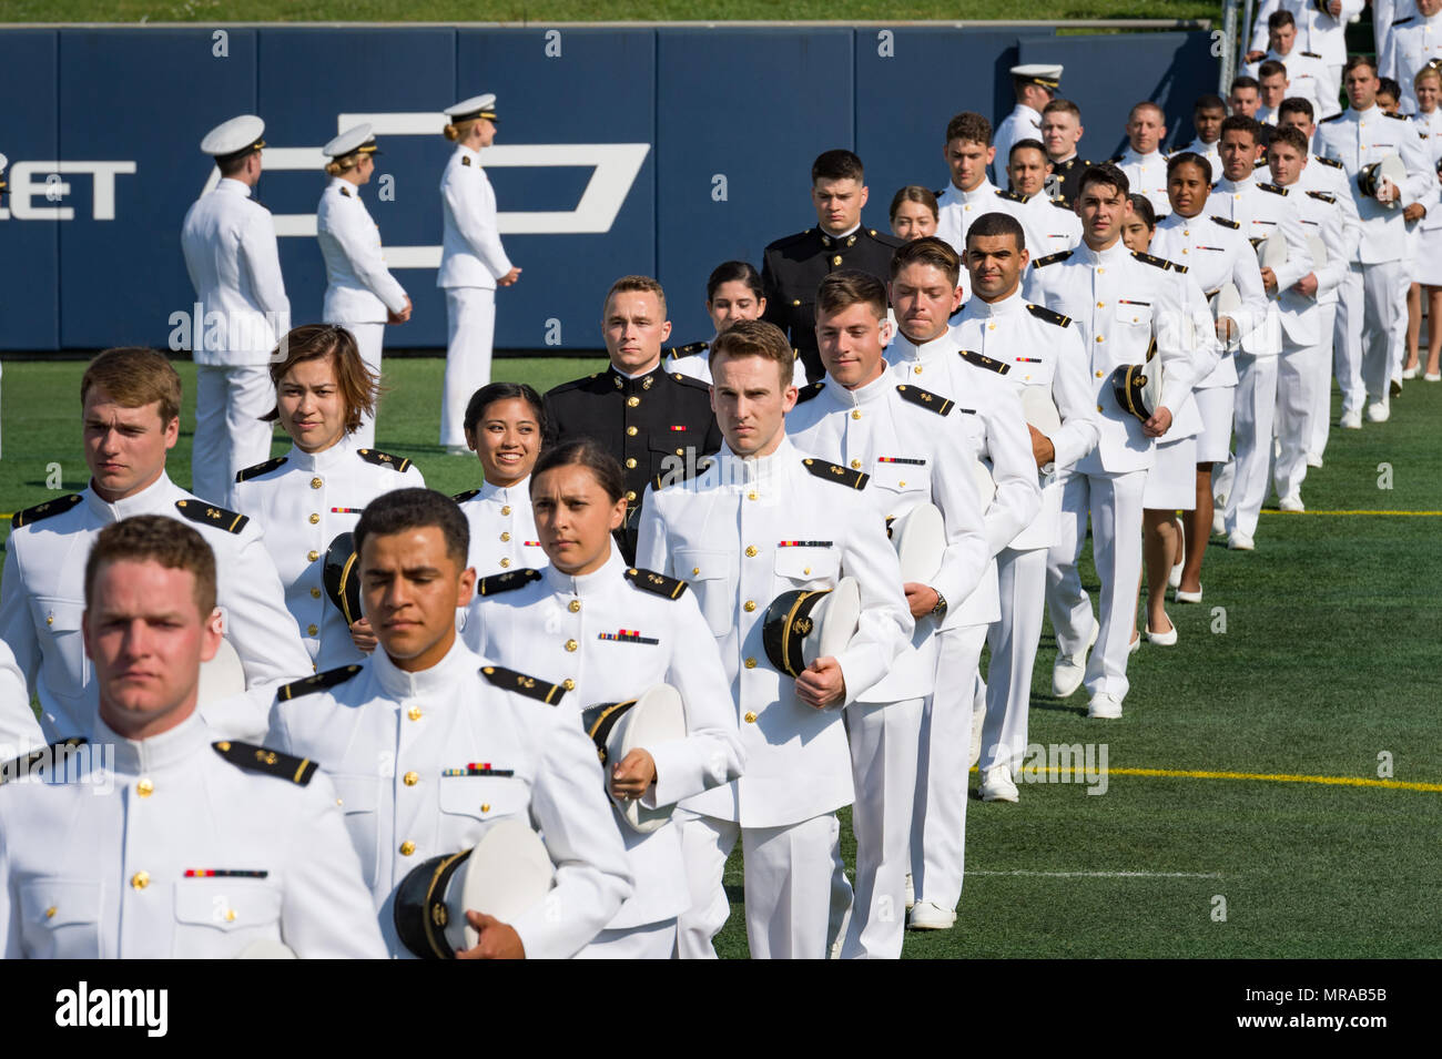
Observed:
[[[180,249],[205,321],[195,362],[235,367],[270,360],[290,330],[290,300],[275,225],[270,210],[251,197],[249,184],[224,179],[196,199],[180,228]],[[219,314],[213,329],[212,313]]]

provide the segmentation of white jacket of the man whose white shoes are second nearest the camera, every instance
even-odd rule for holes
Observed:
[[[973,353],[1005,365],[1004,382],[1019,395],[1027,386],[1044,389],[1061,416],[1061,429],[1050,437],[1056,455],[1050,474],[1037,473],[1041,486],[1041,510],[1008,548],[1048,548],[1061,533],[1061,490],[1067,473],[1087,452],[1096,448],[1096,412],[1092,411],[1092,389],[1087,385],[1087,350],[1082,334],[1070,321],[1058,323],[1047,314],[1032,311],[1021,292],[999,301],[972,298],[962,307],[946,339],[926,346],[895,347],[895,370],[916,373],[916,365],[929,367],[932,360],[959,359],[956,350]],[[916,363],[913,363],[913,359]],[[953,380],[962,386],[970,377]],[[1031,431],[1027,431],[1027,452],[1031,452]],[[1035,465],[1035,460],[1031,461]]]

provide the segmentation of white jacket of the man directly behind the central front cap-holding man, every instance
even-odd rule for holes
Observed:
[[[898,334],[891,350],[904,341]],[[907,401],[906,393],[914,399]],[[946,527],[946,550],[930,586],[947,602],[943,624],[983,578],[995,582],[982,500],[969,473],[978,458],[976,444],[945,395],[933,395],[911,379],[903,382],[885,367],[878,379],[854,390],[828,376],[808,388],[805,401],[787,414],[786,435],[806,452],[865,471],[871,480],[861,494],[883,524],[919,504],[936,504]],[[1008,500],[1025,511],[1021,488],[1009,488]],[[930,694],[936,682],[936,618],[916,620],[914,654],[898,657],[881,683],[857,697],[900,702]]]

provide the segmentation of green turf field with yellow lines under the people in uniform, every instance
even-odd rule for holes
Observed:
[[[497,360],[496,375],[545,389],[597,365]],[[180,369],[193,393],[193,369]],[[479,474],[435,444],[441,370],[438,359],[386,363],[378,445],[457,491]],[[0,510],[49,496],[50,463],[65,490],[84,486],[81,372],[79,363],[6,365]],[[186,484],[192,421],[183,422],[172,471]],[[1112,769],[1357,778],[1377,778],[1386,752],[1393,778],[1442,782],[1442,517],[1315,513],[1442,510],[1439,422],[1442,386],[1415,382],[1390,422],[1334,431],[1327,465],[1302,488],[1306,514],[1266,511],[1256,552],[1208,552],[1206,601],[1169,607],[1177,647],[1148,645],[1132,658],[1120,720],[1089,722],[1080,692],[1050,697],[1048,627],[1031,741],[1105,741]],[[1379,488],[1383,463],[1390,490]],[[1089,555],[1083,579],[1094,588]],[[849,859],[849,830],[844,837]],[[1082,784],[1022,784],[1017,805],[970,803],[972,873],[957,926],[908,935],[906,955],[1442,957],[1439,843],[1438,792],[1112,775],[1096,797]],[[1057,872],[1216,877],[1011,875]],[[734,857],[727,882],[737,902],[740,880]],[[1213,919],[1217,896],[1226,922]],[[717,941],[722,955],[746,954],[740,903]]]

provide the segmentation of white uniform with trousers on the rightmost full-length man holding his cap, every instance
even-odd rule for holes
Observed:
[[[1347,313],[1351,337],[1361,347],[1361,376],[1367,399],[1387,408],[1392,369],[1394,363],[1400,366],[1403,353],[1394,341],[1393,330],[1399,313],[1406,313],[1403,259],[1407,254],[1407,228],[1402,209],[1410,202],[1426,200],[1436,173],[1412,121],[1384,114],[1376,104],[1361,112],[1348,107],[1338,117],[1324,121],[1317,127],[1315,143],[1319,154],[1343,163],[1361,220],[1357,261],[1361,264],[1363,310],[1355,313],[1355,303],[1347,305],[1348,292],[1344,291],[1345,308],[1340,311]],[[1400,202],[1384,206],[1361,193],[1357,173],[1363,166],[1381,161],[1389,154],[1402,157],[1407,179],[1397,189]]]

